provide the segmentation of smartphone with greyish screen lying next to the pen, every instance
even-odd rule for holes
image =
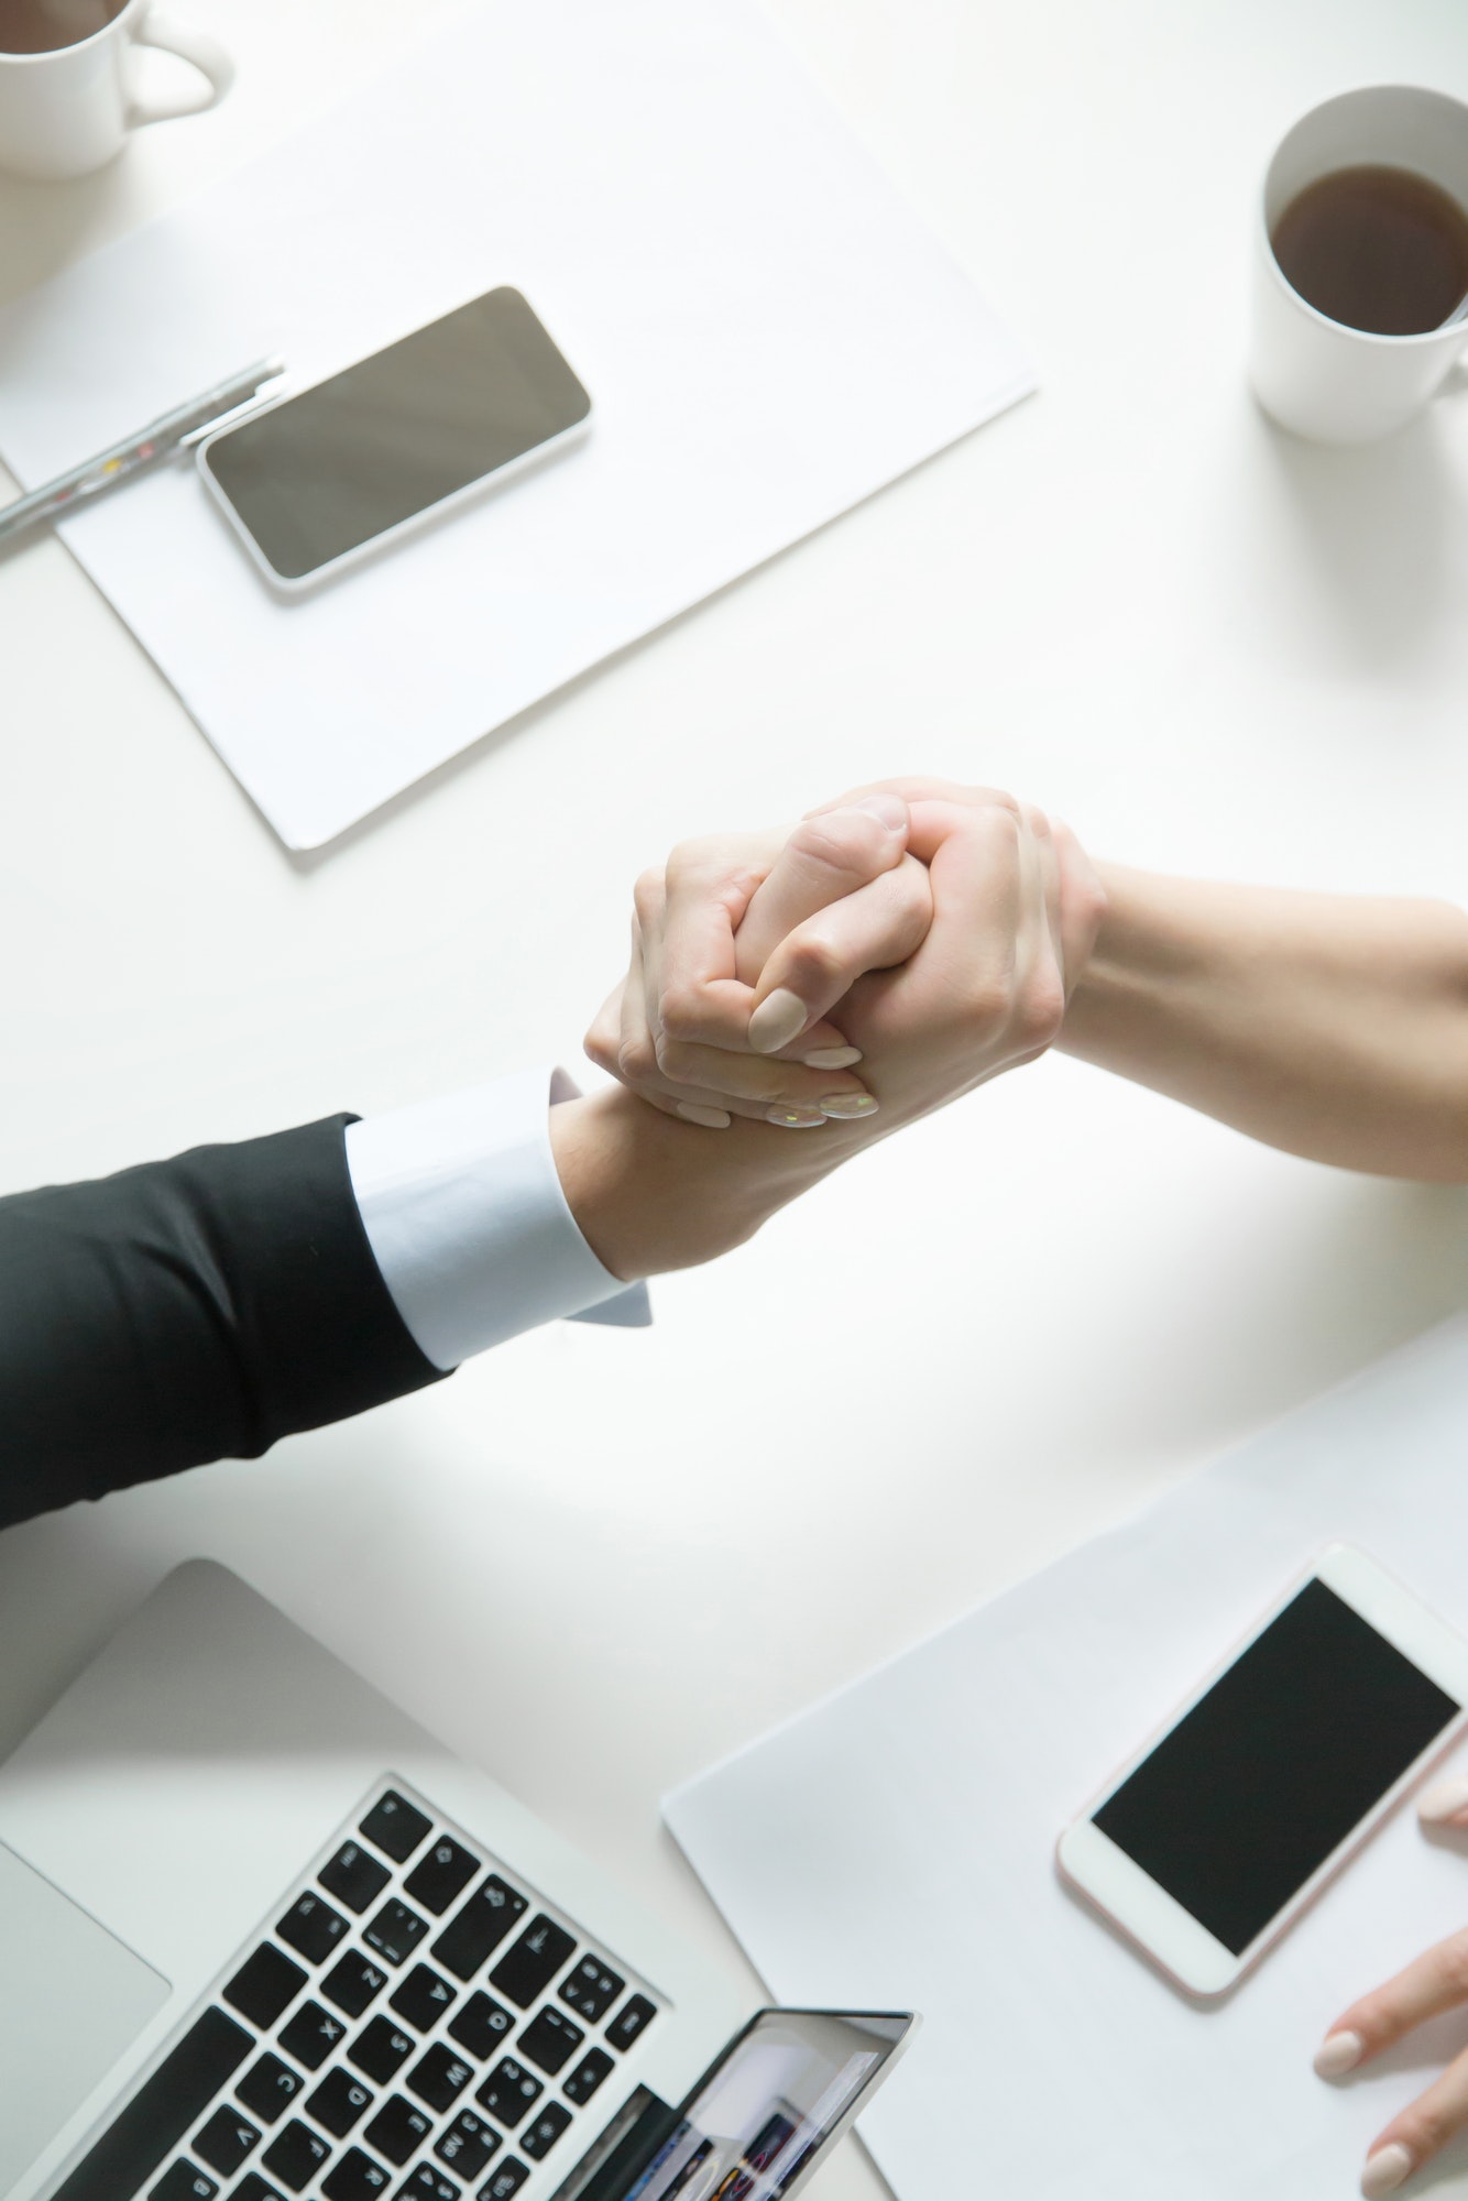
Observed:
[[[592,401],[502,286],[207,436],[198,471],[297,594],[588,431]]]

